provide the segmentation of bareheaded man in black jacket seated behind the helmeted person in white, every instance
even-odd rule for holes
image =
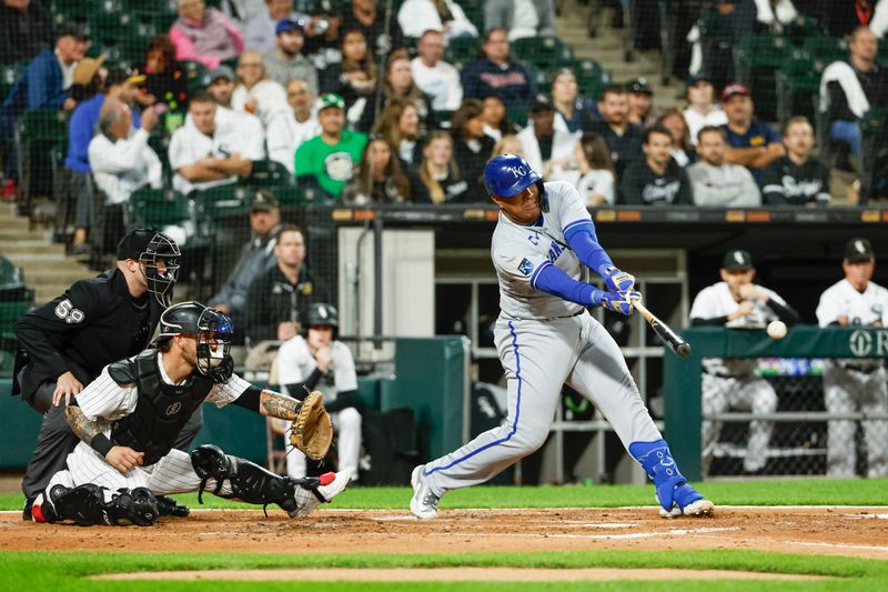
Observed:
[[[270,203],[273,204],[270,197]],[[296,337],[312,302],[326,302],[330,295],[305,267],[305,235],[295,225],[284,224],[274,243],[275,264],[250,282],[246,297],[246,337],[256,348],[263,341],[286,341]],[[248,363],[249,367],[259,364]]]

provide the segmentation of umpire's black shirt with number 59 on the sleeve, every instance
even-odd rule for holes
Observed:
[[[87,385],[107,364],[142,351],[160,313],[150,293],[130,294],[119,269],[74,282],[16,323],[19,345],[30,358],[21,392],[30,395],[40,383],[68,371]]]

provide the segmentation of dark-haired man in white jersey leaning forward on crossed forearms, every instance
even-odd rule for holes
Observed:
[[[243,138],[236,120],[216,121],[212,97],[199,92],[189,103],[191,124],[173,132],[170,167],[173,188],[190,194],[195,190],[234,183],[250,177],[253,161],[265,155],[262,139]],[[223,311],[224,312],[224,311]]]

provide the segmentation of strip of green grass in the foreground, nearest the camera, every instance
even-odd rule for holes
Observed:
[[[820,590],[877,590],[888,581],[888,562],[854,558],[828,558],[765,553],[759,551],[562,551],[544,553],[476,553],[476,554],[248,554],[248,553],[94,553],[94,552],[6,552],[0,553],[0,589],[2,590],[118,590],[129,592],[163,590],[220,590],[219,581],[200,582],[97,582],[83,580],[89,575],[164,570],[213,570],[213,569],[275,569],[275,568],[460,568],[460,566],[507,566],[515,568],[515,581],[521,582],[521,568],[675,568],[675,569],[720,569],[758,571],[767,573],[795,573],[825,575],[838,580],[776,582],[738,581],[729,578],[718,582],[683,580],[676,582],[630,583],[630,575],[618,582],[605,583],[522,583],[522,590],[617,590],[638,589],[674,592],[682,590],[767,590],[820,591]],[[208,574],[210,575],[210,574]],[[764,584],[764,585],[763,585]],[[360,584],[363,590],[515,590],[514,583],[381,583]],[[299,583],[268,582],[261,590],[354,590],[350,583]],[[256,590],[255,582],[226,582],[224,590]]]

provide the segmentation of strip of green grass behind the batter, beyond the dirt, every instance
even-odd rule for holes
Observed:
[[[698,489],[726,505],[888,505],[888,479],[799,479],[706,482]],[[355,488],[336,498],[334,506],[404,510],[410,488]],[[196,494],[178,495],[198,508]],[[21,494],[0,494],[0,510],[21,509]],[[206,493],[208,508],[252,508]],[[539,488],[477,486],[452,491],[441,508],[616,508],[654,505],[653,485],[565,485]]]

